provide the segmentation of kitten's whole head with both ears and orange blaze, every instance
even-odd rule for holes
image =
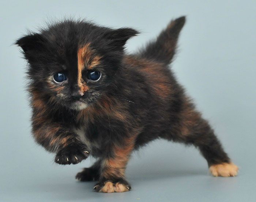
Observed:
[[[30,89],[53,104],[81,110],[116,86],[124,45],[136,34],[131,28],[114,30],[65,20],[16,44],[29,62]]]

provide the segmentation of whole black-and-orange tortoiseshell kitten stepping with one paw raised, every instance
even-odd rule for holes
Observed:
[[[53,23],[16,41],[29,62],[32,127],[58,164],[98,158],[76,175],[99,192],[131,190],[124,176],[134,149],[157,138],[193,144],[214,176],[237,166],[177,83],[168,65],[185,17],[137,54],[124,52],[139,32],[83,20]]]

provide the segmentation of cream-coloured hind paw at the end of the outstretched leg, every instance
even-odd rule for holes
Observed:
[[[210,166],[209,170],[214,176],[229,177],[237,175],[238,167],[232,162],[221,163]]]

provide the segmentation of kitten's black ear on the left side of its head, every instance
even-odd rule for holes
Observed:
[[[26,55],[30,51],[41,50],[44,38],[40,34],[30,34],[18,39],[15,44],[23,49]]]

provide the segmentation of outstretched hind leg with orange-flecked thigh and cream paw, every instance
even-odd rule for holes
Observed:
[[[214,176],[235,176],[238,167],[233,164],[214,131],[206,120],[201,117],[190,102],[185,102],[179,114],[179,120],[172,127],[172,135],[165,139],[193,144],[207,160],[209,170]]]

